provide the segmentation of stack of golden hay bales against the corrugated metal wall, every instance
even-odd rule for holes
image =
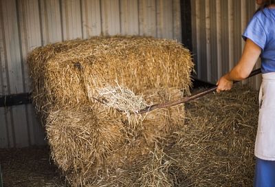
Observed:
[[[148,104],[189,94],[190,53],[175,41],[122,36],[67,41],[37,48],[28,63],[52,157],[73,186],[108,181],[131,167],[142,173],[137,164],[183,125],[183,105],[129,120],[129,113],[98,102],[102,88],[118,85]],[[144,177],[156,181],[142,176],[137,186]]]

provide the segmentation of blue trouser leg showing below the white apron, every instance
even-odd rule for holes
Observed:
[[[275,161],[256,157],[254,187],[275,187]]]

